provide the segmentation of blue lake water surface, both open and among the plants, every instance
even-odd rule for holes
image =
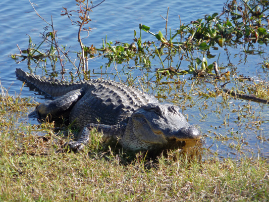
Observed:
[[[94,1],[93,4],[96,5],[100,1]],[[58,30],[59,44],[71,46],[72,51],[79,51],[80,46],[77,42],[77,30],[78,27],[73,26],[67,16],[60,16],[62,7],[68,10],[77,10],[75,1],[40,1],[36,0],[35,3],[36,11],[48,22],[51,21],[51,16],[53,17],[53,25],[56,30]],[[180,26],[179,16],[182,23],[188,24],[190,21],[197,20],[198,18],[204,18],[204,15],[213,13],[221,13],[224,6],[224,1],[115,1],[106,0],[100,6],[93,9],[90,15],[92,22],[89,24],[91,28],[96,28],[90,33],[90,36],[83,40],[84,44],[90,46],[93,44],[95,47],[101,47],[102,38],[104,39],[107,35],[107,41],[112,41],[113,43],[117,41],[132,43],[134,38],[134,29],[139,33],[139,24],[144,24],[150,27],[150,31],[158,32],[159,30],[163,33],[165,32],[165,20],[160,17],[166,17],[167,8],[169,10],[168,18],[168,28],[171,27],[172,31],[176,30]],[[20,93],[22,87],[22,82],[16,79],[15,69],[21,68],[28,71],[27,63],[21,62],[16,64],[9,55],[19,54],[16,44],[19,45],[21,49],[26,49],[28,46],[28,35],[31,36],[34,43],[41,41],[39,35],[43,32],[43,27],[46,23],[43,22],[36,14],[33,12],[28,1],[4,1],[0,3],[0,12],[2,20],[1,25],[1,40],[0,40],[0,81],[3,87],[9,89],[10,95],[15,95]],[[75,13],[73,13],[74,19],[76,19]],[[155,40],[152,35],[142,32],[142,41],[152,41]],[[260,68],[260,63],[263,62],[264,58],[267,57],[266,46],[262,44],[255,44],[256,49],[262,49],[265,52],[265,56],[260,55],[248,55],[247,58],[242,54],[244,46],[237,46],[229,49],[229,53],[225,50],[225,47],[219,47],[218,53],[221,53],[220,60],[223,66],[227,66],[230,62],[235,65],[233,71],[243,74],[244,76],[257,76],[258,79],[267,81],[268,70]],[[201,54],[197,53],[201,57]],[[197,57],[197,56],[195,56]],[[218,56],[217,56],[218,57]],[[216,61],[217,58],[208,59],[208,63]],[[177,64],[178,61],[174,61]],[[95,72],[100,72],[100,66],[106,66],[107,59],[94,59],[89,62],[90,70]],[[78,63],[76,63],[78,64]],[[181,67],[187,65],[187,61],[183,61]],[[118,65],[118,69],[122,69],[123,66],[128,67],[135,66],[132,63]],[[49,66],[49,64],[47,64]],[[167,66],[167,64],[166,64]],[[35,65],[33,65],[35,67]],[[154,74],[155,68],[160,68],[158,59],[151,62],[151,69],[147,70],[150,75]],[[71,64],[67,64],[66,69],[72,70]],[[186,67],[186,69],[188,69]],[[60,65],[57,65],[57,70],[61,70]],[[112,67],[109,73],[115,73],[115,69]],[[231,71],[229,69],[229,71]],[[42,69],[36,71],[39,75],[44,75]],[[133,68],[132,76],[141,76],[141,70],[139,68]],[[114,79],[114,76],[110,78]],[[124,79],[123,75],[123,79]],[[182,79],[187,79],[188,76],[182,77]],[[229,87],[229,86],[228,86]],[[36,94],[36,92],[29,91],[28,88],[24,87],[22,89],[21,96],[32,96],[35,97],[37,102],[43,102],[43,97]],[[198,99],[198,97],[197,97]],[[222,102],[222,98],[217,98],[218,102]],[[201,112],[198,109],[199,105],[202,105],[208,100],[200,99],[197,101],[196,106],[186,107],[184,114],[189,115],[191,124],[198,124],[202,130],[202,133],[208,135],[205,142],[205,147],[210,147],[211,151],[218,151],[224,157],[231,156],[236,157],[237,153],[234,148],[231,147],[230,143],[223,143],[222,138],[218,138],[218,134],[222,136],[237,134],[238,138],[248,141],[248,145],[244,145],[245,150],[248,154],[259,154],[264,157],[269,156],[269,110],[268,106],[261,105],[251,102],[249,104],[245,100],[234,100],[227,106],[227,109],[216,109],[216,106],[205,109]],[[245,126],[244,121],[242,121],[241,126],[237,121],[237,114],[230,114],[230,125],[219,127],[222,125],[224,117],[229,115],[230,108],[244,108],[244,106],[251,105],[253,114],[259,116],[262,119],[262,124],[258,129],[252,129],[249,125]],[[213,109],[215,108],[215,109]],[[229,109],[229,110],[228,110]],[[218,113],[221,112],[221,113]],[[201,113],[207,115],[206,119],[201,118]],[[190,118],[191,117],[191,118]],[[247,117],[245,121],[250,118]],[[217,129],[214,129],[214,128]],[[231,130],[239,131],[238,133],[231,133]],[[265,137],[267,141],[260,140],[257,138],[257,134],[260,133],[261,136]],[[217,134],[217,135],[216,135]],[[238,143],[238,142],[237,142]],[[235,154],[235,155],[233,155]]]

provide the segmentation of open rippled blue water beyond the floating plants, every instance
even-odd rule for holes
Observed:
[[[101,1],[94,1],[94,5]],[[78,27],[73,26],[67,16],[60,16],[62,7],[68,10],[77,10],[75,1],[33,1],[36,11],[47,22],[51,22],[58,30],[60,44],[71,45],[75,51],[79,51],[80,46],[77,42]],[[212,11],[221,11],[223,1],[105,1],[100,6],[93,9],[90,15],[92,22],[89,24],[91,28],[96,28],[90,33],[90,37],[84,39],[84,44],[93,44],[96,47],[101,47],[102,38],[107,35],[108,41],[123,41],[133,42],[134,29],[139,30],[140,23],[150,26],[152,32],[158,32],[160,29],[164,32],[165,20],[160,15],[166,17],[167,7],[169,10],[168,27],[176,29],[180,26],[178,15],[181,17],[182,23],[189,23],[191,20],[203,18],[205,14],[211,14]],[[46,23],[43,22],[33,11],[29,1],[3,1],[0,3],[0,12],[2,20],[0,22],[0,80],[3,86],[10,88],[9,92],[18,92],[21,82],[16,80],[15,69],[26,68],[25,63],[14,64],[8,56],[10,54],[19,53],[16,44],[21,49],[26,49],[28,46],[28,35],[31,36],[34,43],[41,41],[39,38],[40,32],[43,32],[43,27]],[[76,19],[75,13],[73,17]],[[147,33],[143,34],[143,41],[154,40]],[[104,65],[107,61],[94,60],[90,62],[91,68],[98,68]],[[71,67],[71,65],[70,65]],[[68,67],[66,67],[68,68]],[[60,67],[59,67],[60,69]],[[14,83],[13,83],[14,82]],[[12,84],[13,83],[13,84]],[[11,85],[12,84],[12,85]],[[23,90],[23,95],[30,96],[31,92]]]

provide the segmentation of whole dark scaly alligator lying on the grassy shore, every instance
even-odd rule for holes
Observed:
[[[36,108],[40,117],[63,116],[80,129],[77,141],[66,143],[72,150],[83,149],[92,128],[103,133],[105,143],[116,142],[132,151],[188,148],[201,138],[179,107],[160,104],[153,95],[135,87],[100,79],[69,83],[40,78],[22,69],[16,69],[16,74],[53,98]]]

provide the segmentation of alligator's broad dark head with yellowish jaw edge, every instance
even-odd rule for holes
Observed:
[[[132,114],[127,128],[133,137],[125,138],[142,145],[139,150],[188,148],[201,138],[199,130],[187,122],[179,108],[170,104],[141,107]]]

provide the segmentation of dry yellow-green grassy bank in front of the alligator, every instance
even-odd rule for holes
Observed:
[[[84,151],[63,153],[66,138],[52,131],[53,123],[22,119],[36,106],[30,99],[6,95],[0,103],[0,201],[269,200],[267,160],[151,161],[137,154],[126,162],[125,154],[102,151],[97,134]]]

